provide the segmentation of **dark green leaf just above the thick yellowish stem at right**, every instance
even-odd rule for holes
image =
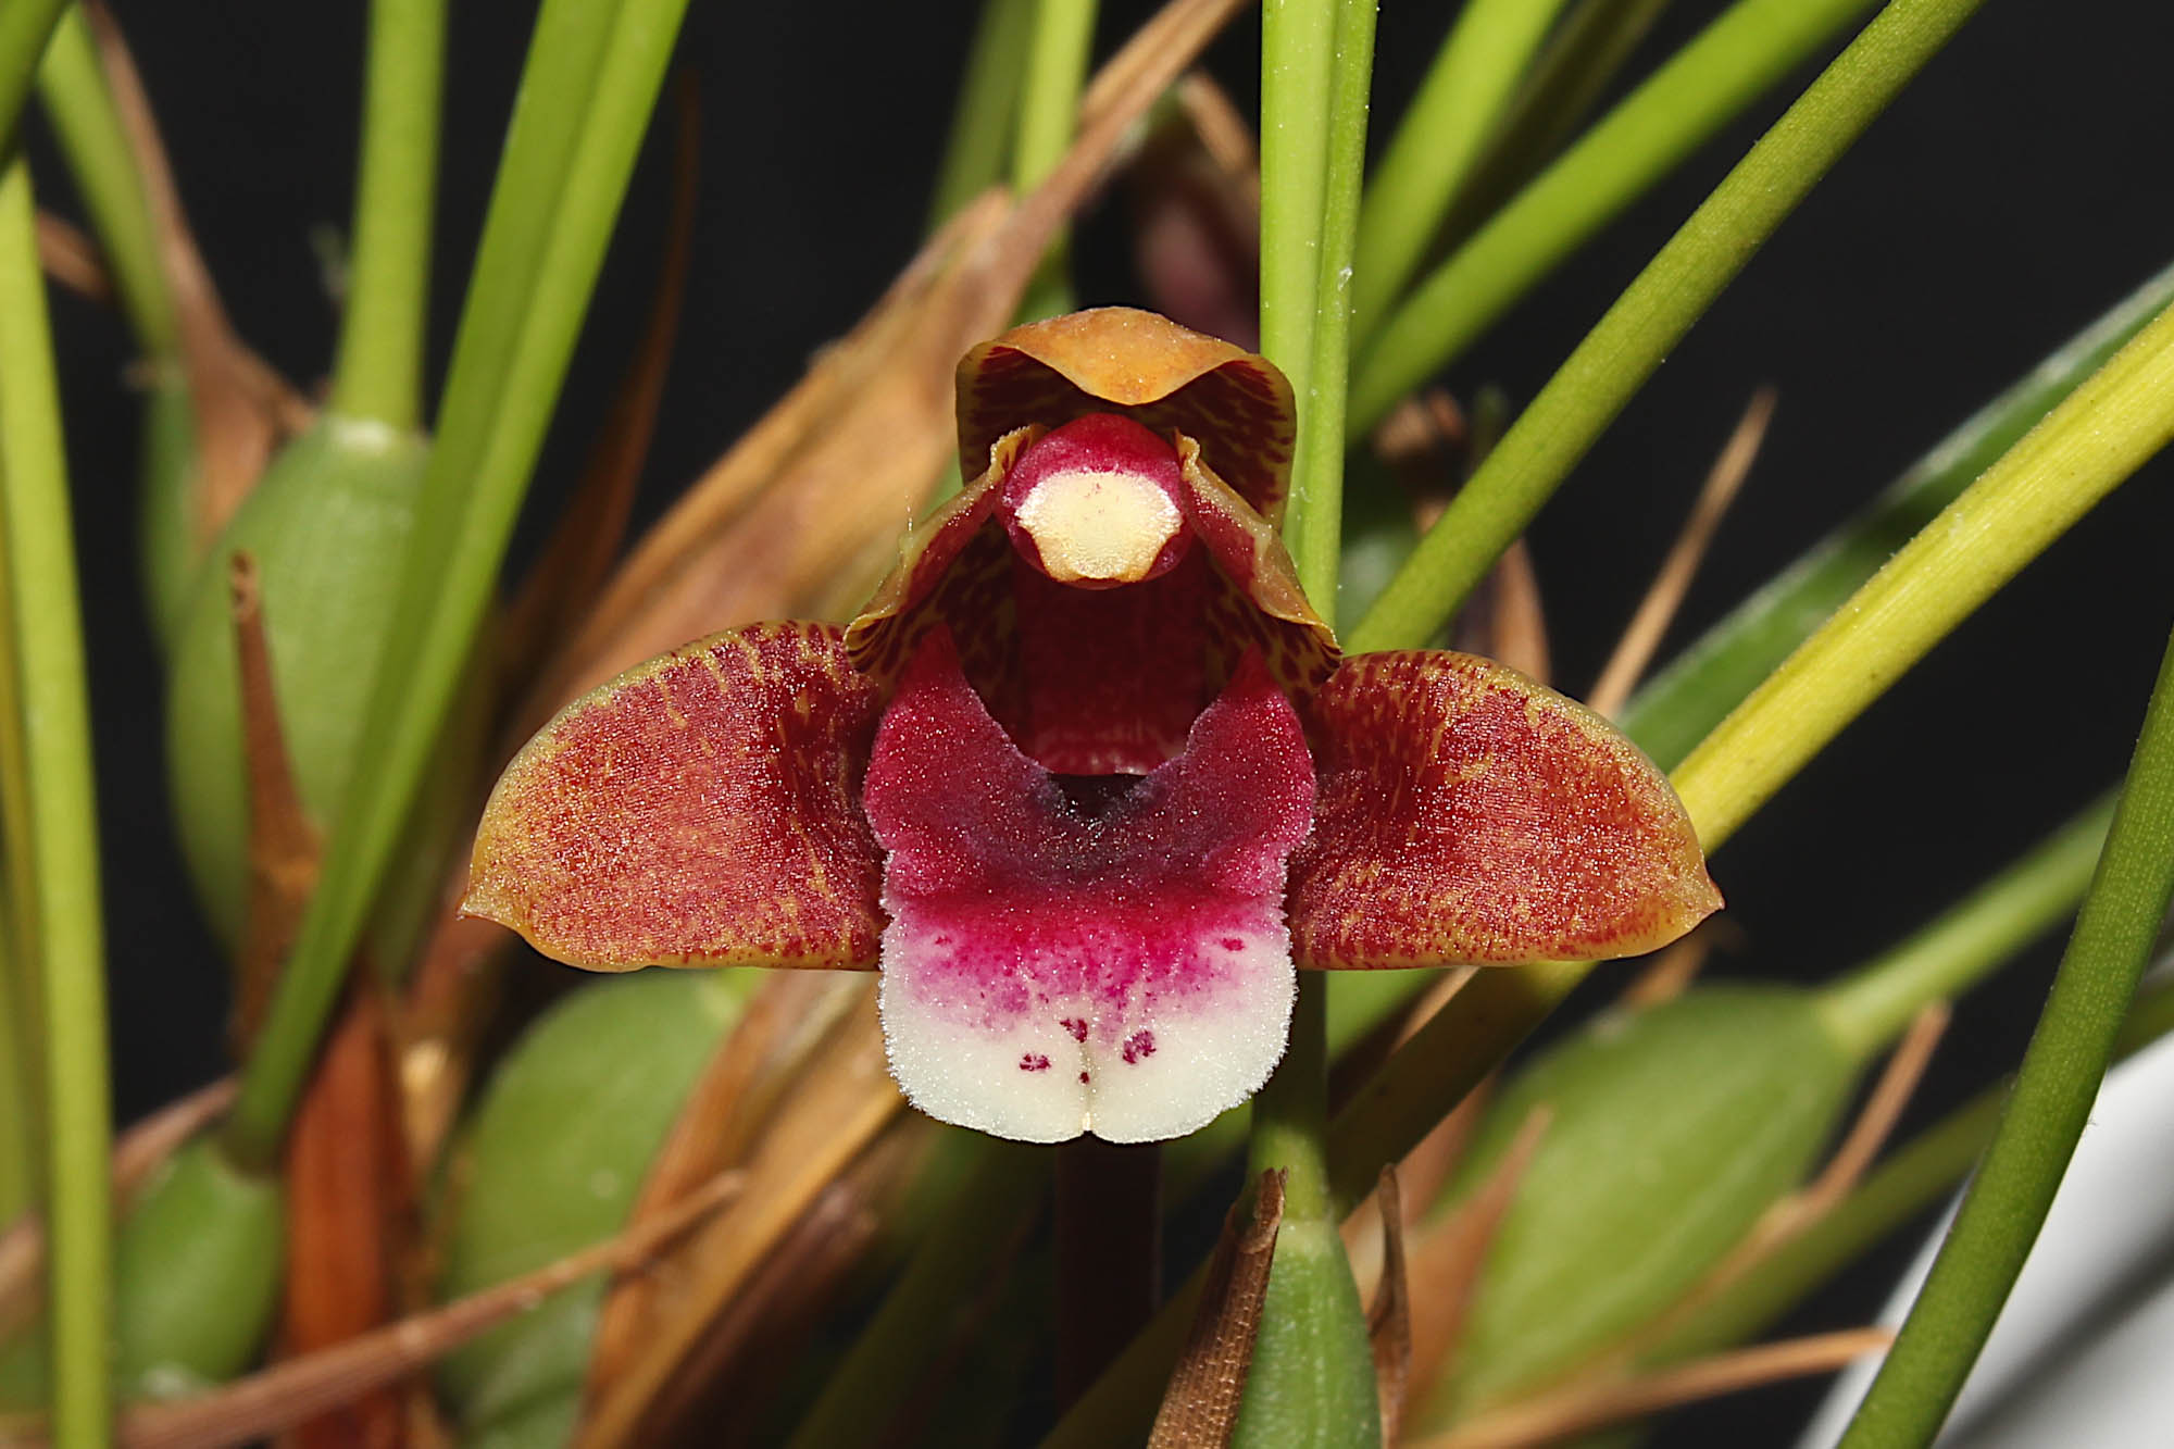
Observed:
[[[2061,344],[1917,459],[1872,507],[1813,544],[1700,635],[1630,698],[1617,720],[1624,733],[1663,770],[1674,768],[1896,548],[2167,302],[2174,302],[2174,268],[2161,270]]]

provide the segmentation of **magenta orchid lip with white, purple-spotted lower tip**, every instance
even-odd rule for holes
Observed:
[[[1022,755],[933,633],[883,718],[867,816],[889,851],[883,1029],[930,1116],[1028,1142],[1172,1138],[1283,1055],[1285,862],[1313,766],[1257,657],[1133,783]],[[1076,785],[1080,790],[1083,785]]]

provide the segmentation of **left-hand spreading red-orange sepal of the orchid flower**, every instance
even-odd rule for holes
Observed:
[[[591,970],[872,966],[857,803],[876,690],[828,624],[754,624],[620,674],[491,790],[461,909]]]

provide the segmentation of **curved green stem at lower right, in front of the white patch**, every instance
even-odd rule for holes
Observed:
[[[2174,637],[2015,1090],[1841,1449],[1928,1445],[2037,1240],[2174,899]]]

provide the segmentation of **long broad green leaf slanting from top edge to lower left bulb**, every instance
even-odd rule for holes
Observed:
[[[400,605],[324,872],[226,1147],[272,1162],[491,603],[685,0],[546,0],[476,252]]]

